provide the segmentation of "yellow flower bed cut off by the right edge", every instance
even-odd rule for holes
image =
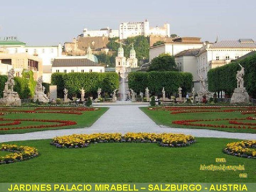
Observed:
[[[256,159],[256,140],[244,140],[241,142],[228,143],[224,149],[224,153]]]

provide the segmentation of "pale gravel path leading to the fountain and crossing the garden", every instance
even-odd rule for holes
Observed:
[[[105,133],[105,132],[155,132],[155,133],[184,133],[195,137],[234,138],[234,139],[256,139],[252,133],[229,133],[207,129],[185,129],[159,126],[153,122],[138,105],[105,106],[110,109],[103,114],[91,127],[81,129],[59,129],[24,134],[0,135],[1,142],[50,139],[55,136],[69,135],[74,133]]]

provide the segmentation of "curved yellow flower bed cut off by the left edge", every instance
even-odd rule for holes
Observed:
[[[35,158],[39,155],[38,150],[30,146],[2,144],[1,151],[8,151],[13,153],[7,154],[5,156],[0,156],[0,165],[28,160],[31,158]]]

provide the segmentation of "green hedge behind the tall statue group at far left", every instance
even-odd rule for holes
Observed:
[[[3,91],[5,87],[5,82],[7,81],[7,75],[0,75],[0,97],[3,97]],[[14,91],[18,93],[20,98],[31,97],[31,89],[29,80],[26,78],[15,77]]]

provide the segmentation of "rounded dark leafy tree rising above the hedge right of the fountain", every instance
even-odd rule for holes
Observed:
[[[162,53],[151,60],[149,71],[177,71],[174,57],[168,53]]]

